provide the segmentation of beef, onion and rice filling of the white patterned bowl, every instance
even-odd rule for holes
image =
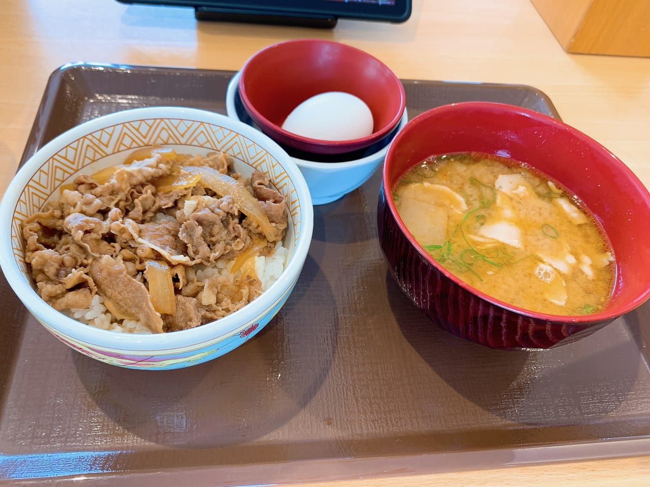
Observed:
[[[287,209],[268,177],[225,153],[170,147],[79,175],[23,223],[39,295],[121,332],[197,327],[238,310],[281,273]]]

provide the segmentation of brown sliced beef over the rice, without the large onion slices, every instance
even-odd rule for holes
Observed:
[[[203,266],[194,266],[224,269],[264,232],[240,212],[235,198],[219,197],[200,182],[159,193],[157,178],[170,174],[172,164],[206,166],[240,181],[279,230],[273,232],[273,242],[264,240],[260,255],[269,255],[283,238],[285,201],[261,172],[255,171],[252,179],[232,173],[231,159],[223,153],[176,160],[153,153],[119,166],[105,184],[100,184],[106,181],[103,176],[77,177],[72,190],[64,190],[59,200],[23,223],[25,260],[47,303],[59,310],[87,308],[99,293],[113,316],[137,318],[151,331],[162,332],[222,318],[261,293],[254,277],[233,282],[231,275],[201,274]],[[172,266],[177,293],[172,315],[155,311],[146,287],[146,263],[161,256]]]

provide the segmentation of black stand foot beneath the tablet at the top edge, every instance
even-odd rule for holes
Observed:
[[[297,27],[316,27],[318,29],[332,29],[337,22],[337,18],[333,16],[315,15],[300,17],[266,10],[232,10],[229,8],[219,9],[202,6],[194,9],[194,16],[197,20],[203,21],[263,23]]]

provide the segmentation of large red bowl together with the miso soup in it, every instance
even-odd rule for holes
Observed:
[[[498,103],[424,112],[383,166],[380,245],[439,327],[493,348],[571,343],[650,296],[650,194],[616,156]]]

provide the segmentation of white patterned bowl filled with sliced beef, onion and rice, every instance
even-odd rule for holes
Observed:
[[[65,132],[18,171],[1,209],[0,262],[31,314],[85,355],[143,369],[250,340],[296,284],[313,225],[277,144],[172,107]]]

